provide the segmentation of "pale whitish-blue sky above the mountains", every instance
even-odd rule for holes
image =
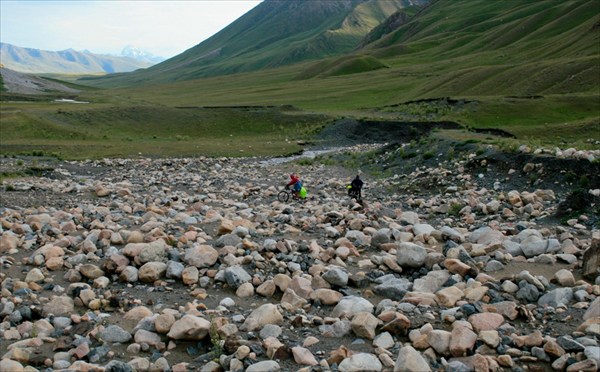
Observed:
[[[48,51],[120,55],[127,45],[170,58],[258,0],[0,0],[0,41]]]

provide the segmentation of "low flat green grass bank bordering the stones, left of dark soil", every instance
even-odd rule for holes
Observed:
[[[327,123],[323,115],[277,107],[174,108],[126,105],[3,103],[3,154],[68,159],[131,156],[290,154],[297,140]]]

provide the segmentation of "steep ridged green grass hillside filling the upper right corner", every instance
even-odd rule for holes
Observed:
[[[428,63],[421,96],[597,94],[600,3],[439,0],[367,49],[392,67]]]

